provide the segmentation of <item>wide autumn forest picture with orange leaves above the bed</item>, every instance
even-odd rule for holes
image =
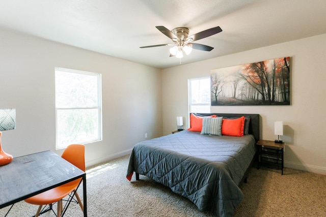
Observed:
[[[290,57],[211,70],[211,105],[290,105]]]

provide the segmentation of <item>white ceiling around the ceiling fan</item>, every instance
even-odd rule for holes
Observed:
[[[1,0],[0,26],[147,66],[180,64],[172,40],[155,28],[185,26],[189,35],[220,26],[196,41],[181,64],[326,33],[325,0]]]

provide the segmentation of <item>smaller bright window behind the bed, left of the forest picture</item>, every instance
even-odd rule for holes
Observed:
[[[188,80],[189,112],[210,112],[210,78]]]

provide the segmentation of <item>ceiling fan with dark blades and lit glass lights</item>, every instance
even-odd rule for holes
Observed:
[[[206,29],[202,32],[196,33],[192,36],[188,36],[189,29],[187,27],[177,27],[172,29],[171,31],[161,25],[155,27],[160,30],[161,33],[172,39],[173,43],[150,45],[140,48],[173,46],[172,48],[170,48],[170,56],[176,56],[177,58],[182,58],[183,52],[188,55],[189,53],[191,53],[192,49],[211,51],[212,49],[214,49],[213,47],[193,42],[222,32],[221,27],[216,26],[213,28]]]

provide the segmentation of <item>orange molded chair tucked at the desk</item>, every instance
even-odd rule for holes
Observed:
[[[85,172],[85,146],[84,145],[80,145],[80,144],[69,145],[64,150],[61,157]],[[71,197],[73,197],[73,194],[76,196],[80,208],[82,208],[84,212],[84,206],[82,204],[82,201],[80,201],[80,198],[76,191],[80,183],[80,180],[82,180],[82,178],[60,185],[57,188],[50,189],[46,192],[25,199],[25,202],[39,205],[35,217],[37,217],[40,214],[43,205],[50,205],[50,208],[46,210],[48,211],[52,209],[53,203],[58,202],[57,216],[60,217],[63,211],[63,206],[62,206],[63,198],[65,198],[67,195],[72,193]],[[42,211],[42,213],[43,212],[45,211]]]

